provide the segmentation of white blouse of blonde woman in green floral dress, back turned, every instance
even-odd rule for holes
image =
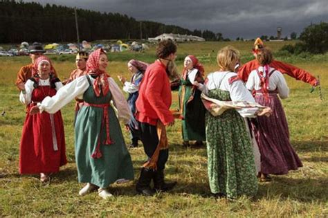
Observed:
[[[250,94],[250,92],[244,86],[242,80],[237,80],[232,84],[229,84],[229,79],[233,76],[236,76],[237,73],[228,72],[228,71],[217,71],[214,73],[208,74],[205,85],[202,87],[203,93],[208,95],[208,91],[213,89],[221,89],[223,91],[228,91],[230,93],[230,98],[232,101],[248,101],[255,102],[255,99]],[[244,118],[253,118],[255,117],[255,112],[257,108],[243,108],[236,109],[240,116]]]

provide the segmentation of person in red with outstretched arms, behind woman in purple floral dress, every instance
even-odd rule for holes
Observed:
[[[264,43],[261,39],[257,38],[254,43],[253,55],[256,57],[257,53],[261,52],[261,49],[263,47]],[[291,64],[286,64],[284,62],[273,60],[270,66],[276,69],[277,71],[280,71],[281,73],[286,73],[287,75],[291,76],[292,78],[295,78],[296,80],[302,80],[303,82],[307,82],[313,87],[316,87],[319,84],[318,80],[313,75],[311,75],[311,73],[304,71],[303,69],[299,69],[298,67],[293,66]],[[259,64],[257,60],[251,60],[250,62],[247,62],[238,69],[238,76],[244,82],[247,82],[248,75],[250,74],[250,72],[258,68]]]

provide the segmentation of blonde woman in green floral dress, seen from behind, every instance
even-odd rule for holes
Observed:
[[[231,46],[222,48],[217,62],[219,71],[210,73],[205,84],[199,86],[206,96],[221,101],[255,102],[235,73],[235,66],[239,65],[239,52]],[[219,116],[206,111],[208,179],[212,194],[228,199],[256,194],[253,144],[244,118],[270,113],[270,108],[257,107],[228,109]]]

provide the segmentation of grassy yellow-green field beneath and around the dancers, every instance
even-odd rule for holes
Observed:
[[[288,42],[269,42],[277,51]],[[202,42],[179,44],[177,64],[182,69],[185,55],[193,54],[203,62],[206,72],[217,70],[215,57],[219,48],[231,44],[242,52],[242,61],[252,59],[252,42]],[[278,53],[277,53],[278,54]],[[74,56],[51,57],[57,73],[64,79],[74,69]],[[136,58],[154,61],[154,47],[145,53],[109,53],[109,73],[129,77],[126,63]],[[82,184],[78,183],[73,141],[74,102],[62,109],[69,163],[55,174],[50,184],[39,182],[39,176],[18,174],[19,141],[26,116],[15,87],[20,66],[30,62],[28,57],[0,57],[0,216],[100,216],[100,217],[327,217],[328,216],[328,134],[327,87],[328,55],[291,57],[285,60],[320,75],[321,101],[318,90],[310,93],[311,86],[286,78],[291,95],[283,100],[289,121],[291,143],[300,155],[304,167],[285,176],[273,176],[271,183],[259,183],[254,199],[235,201],[216,200],[208,187],[206,148],[185,148],[181,145],[181,123],[167,129],[170,158],[167,162],[167,179],[178,181],[169,193],[143,197],[136,194],[133,182],[111,185],[113,199],[104,201],[98,194],[78,196]],[[176,92],[172,108],[177,108]],[[123,130],[125,140],[129,135]],[[137,178],[145,160],[143,148],[130,149]]]

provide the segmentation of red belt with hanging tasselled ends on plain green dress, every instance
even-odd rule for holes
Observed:
[[[102,108],[102,121],[101,121],[101,127],[100,127],[100,134],[98,136],[98,143],[97,147],[95,147],[95,152],[91,155],[92,158],[101,158],[102,154],[100,152],[100,136],[102,133],[102,128],[106,123],[106,140],[104,140],[104,145],[111,145],[113,141],[110,138],[109,135],[109,116],[108,116],[108,107],[110,107],[110,104],[90,104],[87,102],[83,103],[84,106],[89,106],[89,107],[101,107]]]

